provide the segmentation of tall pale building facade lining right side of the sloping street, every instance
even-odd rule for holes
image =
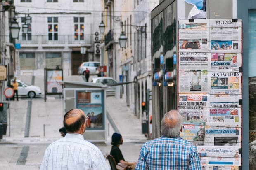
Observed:
[[[102,1],[107,15],[104,18],[104,23],[107,23],[104,41],[107,40],[107,43],[102,44],[106,51],[102,61],[107,63],[108,76],[118,81],[122,76],[123,82],[132,82],[137,77],[137,84],[120,86],[120,93],[116,97],[122,98],[138,119],[146,119],[145,113],[141,111],[141,102],[146,100],[146,90],[152,86],[150,12],[159,4],[159,0]],[[120,47],[118,40],[122,30],[127,38],[125,48]],[[112,37],[109,40],[110,31]],[[149,108],[151,114],[151,102]]]

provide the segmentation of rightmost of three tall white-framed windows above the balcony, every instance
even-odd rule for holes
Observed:
[[[84,17],[74,17],[74,39],[84,40]]]

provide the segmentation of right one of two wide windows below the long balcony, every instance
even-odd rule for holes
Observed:
[[[62,68],[61,53],[46,53],[45,62],[47,68],[56,68],[56,66]]]

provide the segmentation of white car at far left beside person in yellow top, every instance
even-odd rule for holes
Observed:
[[[16,80],[19,84],[18,86],[18,95],[27,95],[29,98],[34,98],[42,94],[42,90],[38,86],[28,85],[21,80]]]

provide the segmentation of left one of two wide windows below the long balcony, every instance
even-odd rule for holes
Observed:
[[[19,62],[21,70],[36,69],[35,53],[19,53]]]

